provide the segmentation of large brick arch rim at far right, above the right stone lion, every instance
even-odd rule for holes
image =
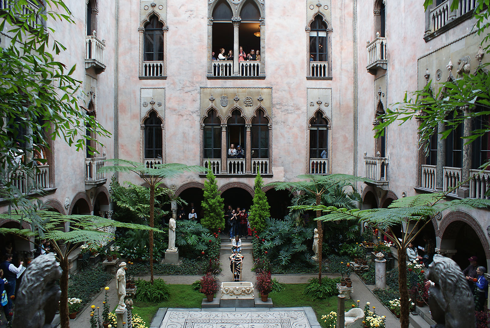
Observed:
[[[451,225],[451,223],[456,224]],[[476,232],[482,243],[483,249],[485,250],[485,256],[490,259],[490,244],[487,236],[478,221],[469,213],[458,210],[446,214],[442,218],[441,225],[439,226],[439,229],[436,230],[436,234],[441,240],[443,239],[442,237],[444,237],[444,239],[456,238],[458,231],[464,223]],[[451,225],[451,227],[449,227],[449,225]]]

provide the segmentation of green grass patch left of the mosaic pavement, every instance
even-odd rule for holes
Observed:
[[[191,288],[191,285],[170,285],[170,297],[162,303],[134,302],[134,313],[150,326],[151,320],[160,307],[201,307],[204,296]]]

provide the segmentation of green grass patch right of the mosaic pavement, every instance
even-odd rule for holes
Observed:
[[[317,314],[317,320],[321,327],[326,325],[321,316],[330,313],[330,311],[337,312],[337,295],[334,295],[325,300],[312,301],[309,296],[303,295],[306,283],[297,284],[283,284],[284,290],[276,293],[270,293],[269,297],[272,299],[274,307],[297,307],[297,306],[311,306]],[[351,304],[354,304],[352,300],[345,301],[345,309],[349,310]]]

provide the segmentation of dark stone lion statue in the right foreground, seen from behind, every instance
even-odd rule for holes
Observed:
[[[456,262],[435,254],[425,277],[434,283],[429,307],[436,325],[431,328],[475,328],[473,295]]]

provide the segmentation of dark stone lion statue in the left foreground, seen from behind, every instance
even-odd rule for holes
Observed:
[[[61,290],[61,268],[54,253],[36,257],[25,270],[15,300],[13,328],[51,328]]]

